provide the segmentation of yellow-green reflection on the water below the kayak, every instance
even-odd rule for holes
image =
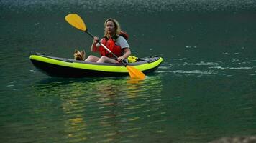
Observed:
[[[164,132],[157,127],[166,120],[165,111],[160,111],[161,77],[147,77],[144,81],[46,79],[37,82],[33,89],[37,98],[55,103],[47,110],[62,110],[49,118],[63,124],[61,134],[72,142],[129,142],[140,139],[145,130],[154,134]]]

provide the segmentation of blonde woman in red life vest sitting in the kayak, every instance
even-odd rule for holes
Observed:
[[[122,35],[120,25],[116,19],[106,19],[104,23],[104,38],[101,39],[101,43],[104,44],[112,53],[118,58],[117,61],[112,54],[110,54],[104,47],[102,47],[98,41],[98,37],[94,37],[93,44],[91,45],[91,51],[99,52],[101,57],[90,55],[85,61],[92,61],[98,63],[119,63],[131,54],[129,50],[129,44]]]

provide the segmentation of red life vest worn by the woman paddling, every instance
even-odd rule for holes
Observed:
[[[123,36],[124,39],[128,39],[128,35],[124,32],[121,32],[120,36]],[[118,36],[114,36],[114,39],[117,38]],[[122,56],[122,48],[121,46],[115,44],[114,39],[107,39],[106,37],[104,37],[103,39],[101,39],[101,43],[104,44],[117,57]],[[99,52],[101,56],[114,57],[112,54],[109,53],[109,51],[106,51],[103,46],[99,46]]]

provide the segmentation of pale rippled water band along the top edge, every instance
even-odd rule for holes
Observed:
[[[214,0],[214,1],[204,1],[204,0],[149,0],[147,2],[143,0],[130,0],[130,1],[118,1],[110,0],[107,3],[104,1],[39,1],[39,0],[19,0],[19,1],[9,1],[2,0],[1,6],[5,9],[15,11],[15,7],[25,8],[25,9],[35,9],[35,7],[43,7],[48,11],[52,11],[57,7],[59,10],[72,11],[76,7],[76,10],[95,12],[106,10],[106,7],[112,5],[113,9],[119,7],[125,7],[122,9],[123,12],[130,11],[131,9],[136,9],[134,12],[149,12],[155,13],[160,11],[221,11],[229,9],[254,9],[256,7],[256,2],[251,0]],[[57,7],[56,7],[57,6]],[[118,12],[122,12],[118,11]]]

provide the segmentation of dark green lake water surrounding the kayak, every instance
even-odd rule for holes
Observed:
[[[111,9],[109,9],[109,7]],[[256,134],[256,2],[0,1],[0,142],[210,142]],[[164,59],[145,81],[47,77],[40,52],[73,58],[106,18],[136,56]]]

